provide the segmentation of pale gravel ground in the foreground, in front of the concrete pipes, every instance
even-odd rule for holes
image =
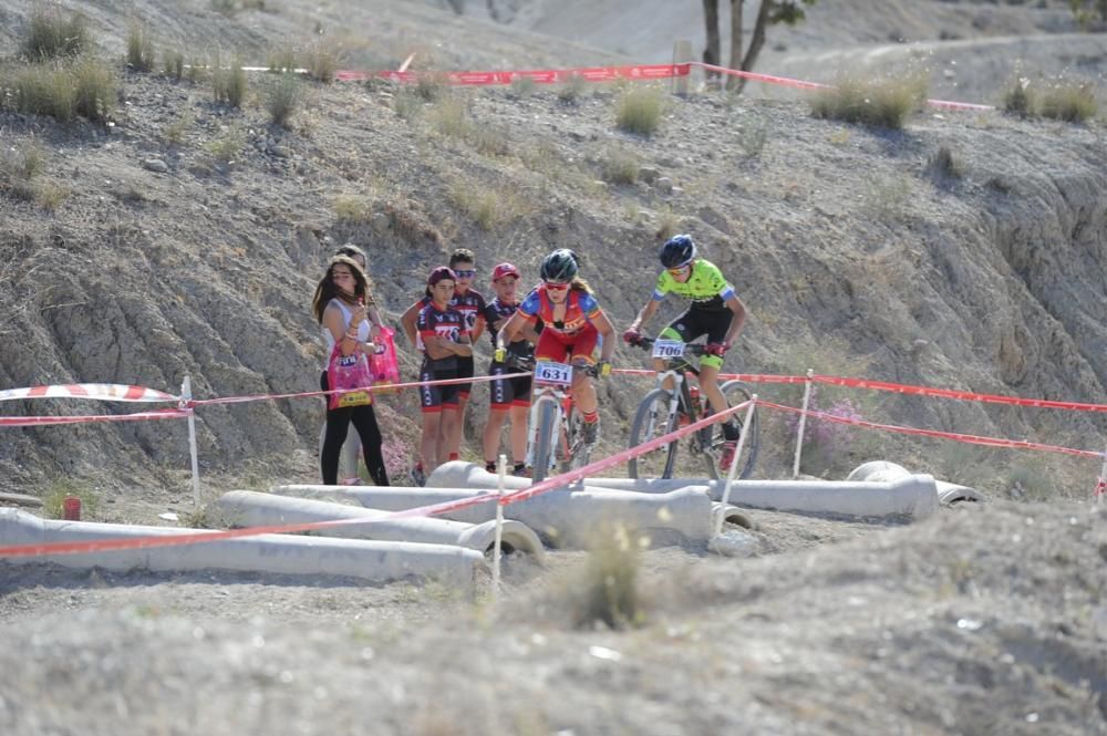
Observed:
[[[3,567],[0,730],[1107,734],[1101,507],[751,515],[754,558],[645,552],[628,631],[571,625],[582,552],[510,559],[499,605]]]

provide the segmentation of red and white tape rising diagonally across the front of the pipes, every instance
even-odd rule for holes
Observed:
[[[468,508],[470,506],[477,506],[479,504],[488,504],[498,500],[503,505],[514,504],[516,501],[527,500],[528,498],[534,498],[539,494],[552,490],[554,488],[560,488],[569,484],[576,483],[582,478],[588,477],[594,473],[600,473],[610,467],[625,463],[632,457],[638,457],[639,455],[644,455],[648,452],[656,449],[662,445],[666,445],[670,442],[675,442],[681,437],[703,429],[704,427],[727,418],[735,412],[738,412],[749,405],[749,402],[744,402],[737,406],[732,406],[725,412],[713,414],[707,416],[694,424],[690,424],[684,427],[680,427],[674,432],[651,439],[650,442],[643,443],[637,447],[622,450],[617,453],[611,457],[607,457],[602,460],[597,460],[596,463],[590,463],[576,470],[570,470],[569,473],[563,473],[552,478],[548,478],[542,483],[535,484],[530,488],[525,488],[511,494],[506,494],[499,496],[497,494],[483,494],[479,496],[472,496],[468,498],[459,498],[452,501],[443,501],[442,504],[433,504],[431,506],[421,506],[418,508],[406,509],[403,511],[392,511],[384,514],[380,517],[373,519],[334,519],[331,521],[310,521],[304,524],[293,524],[283,526],[269,526],[269,527],[250,527],[248,529],[230,529],[227,531],[205,531],[197,533],[187,535],[170,535],[170,536],[158,536],[158,537],[143,537],[139,539],[101,539],[94,541],[80,541],[80,542],[51,542],[46,545],[15,545],[10,547],[0,547],[0,558],[6,557],[42,557],[46,554],[83,554],[89,552],[107,552],[112,550],[123,550],[123,549],[145,549],[149,547],[175,547],[178,545],[195,545],[209,541],[219,541],[223,539],[238,539],[242,537],[255,537],[258,535],[269,535],[269,533],[289,533],[299,531],[314,531],[319,529],[331,529],[334,527],[353,526],[359,524],[373,524],[374,521],[384,521],[389,519],[405,519],[414,517],[427,517],[435,516],[438,514],[445,514],[447,511],[454,511],[463,508]]]

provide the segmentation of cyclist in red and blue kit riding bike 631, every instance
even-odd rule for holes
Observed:
[[[578,271],[577,255],[571,250],[555,250],[542,260],[542,282],[500,328],[496,338],[497,359],[506,354],[505,346],[517,340],[524,325],[534,325],[541,320],[542,332],[535,346],[536,361],[568,361],[577,367],[596,364],[599,375],[607,377],[611,374],[614,328]],[[597,364],[592,354],[601,339],[600,362]],[[572,395],[584,419],[584,444],[591,449],[599,439],[599,403],[591,379],[583,371],[573,372]]]

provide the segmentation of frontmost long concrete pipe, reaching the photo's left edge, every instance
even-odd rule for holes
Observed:
[[[122,524],[49,521],[18,509],[0,509],[0,545],[49,545],[205,533],[201,529]],[[210,532],[215,533],[215,532]],[[407,577],[435,579],[473,590],[485,557],[446,545],[381,542],[327,537],[259,535],[211,542],[81,554],[12,557],[12,563],[55,562],[68,568],[154,571],[248,570],[293,576],[349,576],[374,582]]]

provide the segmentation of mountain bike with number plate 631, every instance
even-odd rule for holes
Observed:
[[[572,376],[584,372],[596,377],[594,365],[569,365],[551,361],[535,364],[527,433],[527,467],[535,483],[558,466],[561,473],[588,465],[584,419],[572,401]]]

